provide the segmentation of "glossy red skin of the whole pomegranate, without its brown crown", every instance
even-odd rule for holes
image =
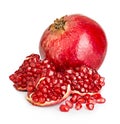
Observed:
[[[80,15],[68,15],[63,30],[47,28],[40,40],[40,53],[45,51],[58,67],[87,65],[98,69],[106,55],[107,40],[101,26]]]

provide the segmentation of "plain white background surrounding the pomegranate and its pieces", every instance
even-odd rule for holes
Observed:
[[[0,0],[0,123],[120,123],[120,3],[119,0]],[[35,107],[26,93],[12,86],[9,75],[31,53],[39,53],[40,37],[49,24],[66,14],[81,13],[96,20],[106,32],[108,51],[99,72],[106,78],[105,104],[93,111],[58,106]]]

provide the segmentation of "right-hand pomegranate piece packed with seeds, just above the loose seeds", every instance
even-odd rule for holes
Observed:
[[[65,70],[67,80],[70,80],[72,92],[94,93],[101,90],[105,82],[95,69],[85,65]],[[101,80],[102,78],[102,80]],[[86,96],[87,97],[87,96]]]

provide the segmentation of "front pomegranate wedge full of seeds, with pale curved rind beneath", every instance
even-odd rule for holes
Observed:
[[[34,90],[28,92],[27,100],[37,106],[54,105],[65,100],[71,94],[71,87],[64,78],[60,77],[56,72],[53,72],[52,75],[46,73],[44,77],[39,77]]]

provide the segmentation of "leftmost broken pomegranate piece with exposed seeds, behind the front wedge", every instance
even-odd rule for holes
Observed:
[[[9,79],[14,83],[17,90],[26,91],[28,82],[35,82],[39,76],[44,76],[45,71],[49,72],[49,68],[52,71],[55,70],[55,66],[50,60],[41,61],[38,54],[31,54],[26,57],[19,69],[9,76]],[[52,71],[49,73],[50,75]],[[29,87],[29,90],[30,88],[33,87]]]

